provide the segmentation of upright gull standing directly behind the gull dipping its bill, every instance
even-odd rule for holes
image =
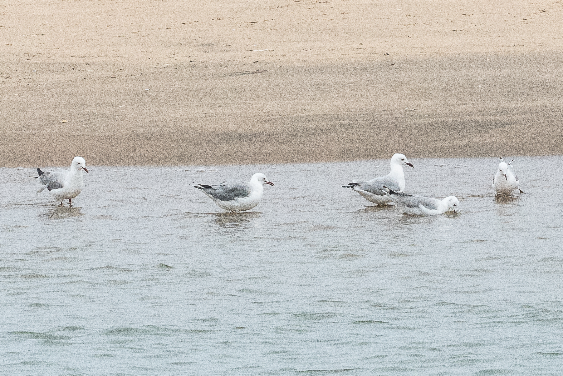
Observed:
[[[392,200],[383,191],[383,185],[390,187],[395,192],[403,192],[405,190],[403,166],[414,167],[404,154],[393,154],[391,157],[391,171],[387,175],[368,180],[367,182],[352,180],[352,183],[342,185],[342,188],[354,189],[354,191],[374,204],[388,204]]]

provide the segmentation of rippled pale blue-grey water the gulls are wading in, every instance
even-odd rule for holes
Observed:
[[[0,169],[0,373],[561,374],[563,182],[537,166],[563,157],[517,158],[508,198],[498,159],[410,162],[406,191],[462,214],[341,188],[388,161],[92,166],[73,207]],[[190,187],[259,171],[247,213]]]

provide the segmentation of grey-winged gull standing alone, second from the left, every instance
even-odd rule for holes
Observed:
[[[194,188],[201,189],[221,209],[238,213],[251,210],[260,203],[264,184],[274,186],[266,175],[257,172],[252,175],[250,182],[228,179],[217,185],[197,184]]]

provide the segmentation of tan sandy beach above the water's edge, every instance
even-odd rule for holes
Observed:
[[[561,25],[563,0],[0,3],[0,166],[561,154]]]

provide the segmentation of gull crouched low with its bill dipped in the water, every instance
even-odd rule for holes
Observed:
[[[383,189],[385,189],[385,193],[390,200],[393,200],[407,214],[436,215],[445,213],[448,210],[453,210],[454,213],[459,211],[459,201],[455,196],[448,196],[444,200],[438,200],[432,197],[394,192],[387,187],[383,187]]]

